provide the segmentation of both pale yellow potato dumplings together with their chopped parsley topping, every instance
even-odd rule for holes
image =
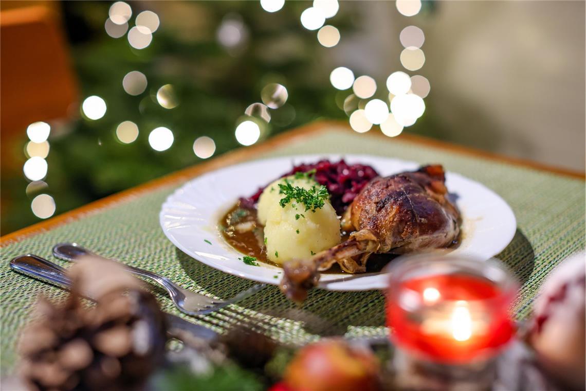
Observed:
[[[258,200],[262,223],[261,216],[266,216],[267,259],[276,264],[311,257],[340,243],[340,220],[328,191],[307,177],[288,176],[269,185]]]

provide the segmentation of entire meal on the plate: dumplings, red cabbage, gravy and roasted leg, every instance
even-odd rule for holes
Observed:
[[[452,246],[460,220],[441,165],[380,177],[367,165],[321,160],[241,198],[220,224],[234,248],[282,266],[281,290],[304,300],[335,264],[364,273],[374,253]]]

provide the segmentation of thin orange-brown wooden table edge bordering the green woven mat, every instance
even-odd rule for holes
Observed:
[[[42,222],[16,230],[12,233],[8,233],[0,237],[0,247],[5,247],[9,244],[19,242],[25,239],[26,237],[46,232],[57,226],[64,225],[74,220],[78,220],[81,217],[92,215],[93,213],[97,213],[100,210],[103,210],[104,208],[108,208],[112,205],[115,205],[116,203],[124,202],[125,200],[135,198],[141,195],[142,193],[152,191],[163,186],[171,186],[181,181],[186,181],[207,171],[212,171],[214,169],[246,161],[247,159],[252,158],[255,155],[270,151],[271,149],[280,147],[281,145],[302,140],[305,137],[308,137],[309,135],[315,135],[320,132],[331,130],[332,127],[352,131],[352,129],[349,127],[346,121],[318,120],[308,125],[295,128],[282,134],[278,134],[275,137],[270,138],[267,141],[261,142],[260,144],[253,145],[252,147],[239,148],[230,152],[226,152],[226,154],[213,158],[210,161],[202,162],[195,166],[190,166],[188,168],[172,172],[171,174],[162,176],[161,178],[153,179],[152,181],[145,182],[142,185],[138,185],[125,191],[115,193],[102,199],[98,199],[94,202],[88,203],[87,205],[83,205],[79,208],[69,210],[68,212],[64,212],[50,219],[43,220]],[[386,140],[388,140],[387,136],[383,135],[381,132],[378,131],[370,131],[366,134],[370,134],[371,137],[384,137]],[[578,178],[582,180],[586,179],[586,174],[584,172],[577,172],[570,169],[540,164],[526,159],[506,157],[503,155],[495,154],[493,152],[464,147],[462,145],[455,145],[445,141],[434,140],[419,135],[401,134],[397,137],[397,139],[418,145],[425,145],[427,147],[444,149],[447,151],[452,151],[459,154],[469,155],[477,158],[481,157],[492,161],[499,161],[507,164],[523,166],[538,171],[546,171],[552,174],[564,175],[569,176],[571,178]]]

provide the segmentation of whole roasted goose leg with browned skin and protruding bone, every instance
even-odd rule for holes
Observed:
[[[345,216],[346,225],[355,232],[311,259],[285,263],[281,290],[301,301],[318,283],[319,271],[333,263],[349,273],[363,273],[372,253],[403,254],[449,246],[458,237],[460,213],[447,195],[441,165],[373,179]]]

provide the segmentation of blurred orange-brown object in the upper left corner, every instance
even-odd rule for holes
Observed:
[[[67,117],[77,84],[55,4],[2,2],[0,59],[2,141],[35,121]]]

